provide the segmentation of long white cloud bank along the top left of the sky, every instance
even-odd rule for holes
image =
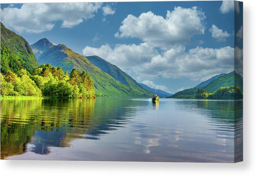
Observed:
[[[53,29],[55,22],[61,21],[61,27],[71,28],[93,18],[102,3],[26,3],[20,8],[8,6],[1,9],[1,21],[6,27],[19,33],[41,33]],[[114,12],[108,6],[103,8],[103,15]]]

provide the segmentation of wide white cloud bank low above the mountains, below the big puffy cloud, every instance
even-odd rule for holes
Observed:
[[[147,43],[139,45],[102,45],[85,47],[83,54],[98,55],[140,78],[152,79],[187,77],[199,80],[209,75],[234,70],[234,48],[219,49],[196,47],[185,51],[184,46],[160,52]],[[202,80],[203,81],[203,80]]]

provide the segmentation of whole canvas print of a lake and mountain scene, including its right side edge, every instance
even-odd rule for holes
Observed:
[[[243,3],[1,4],[1,159],[243,161]]]

